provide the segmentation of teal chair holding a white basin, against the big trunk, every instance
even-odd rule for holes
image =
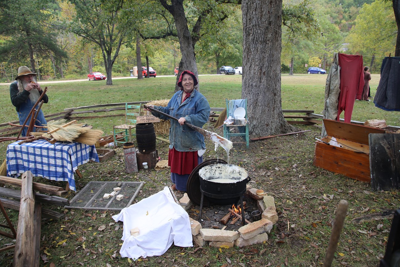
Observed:
[[[230,140],[231,137],[240,136],[243,138],[245,142],[232,142],[234,144],[246,144],[246,148],[249,148],[249,124],[247,123],[247,98],[246,99],[236,99],[236,100],[228,100],[225,99],[226,102],[226,116],[233,116],[233,113],[236,108],[241,106],[246,110],[246,115],[244,118],[246,122],[240,125],[228,125],[224,124],[224,138]],[[232,127],[238,127],[238,132],[231,132]]]

